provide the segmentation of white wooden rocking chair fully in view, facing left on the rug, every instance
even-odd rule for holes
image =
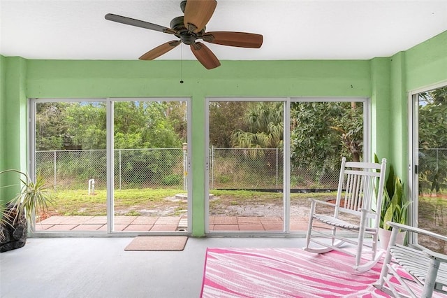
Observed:
[[[363,272],[374,267],[384,253],[377,251],[377,232],[385,172],[385,158],[381,164],[377,164],[346,162],[343,157],[335,204],[311,199],[306,246],[303,249],[311,253],[339,250],[352,255],[356,257],[353,268],[357,271]],[[324,206],[332,208],[333,213],[321,213]],[[365,241],[367,236],[372,238],[370,243]],[[352,247],[343,248],[344,243],[355,246],[355,252]],[[362,260],[365,254],[370,255],[366,261]]]

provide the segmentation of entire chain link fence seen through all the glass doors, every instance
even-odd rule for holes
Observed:
[[[115,150],[115,188],[178,188],[186,190],[186,149]],[[420,150],[420,183],[446,188],[447,149]],[[106,185],[105,150],[36,152],[36,173],[61,189],[82,189],[94,179]],[[210,148],[210,190],[282,190],[283,151],[278,148]],[[336,190],[339,165],[324,161],[312,168],[291,165],[292,190]],[[435,187],[436,188],[436,187]]]

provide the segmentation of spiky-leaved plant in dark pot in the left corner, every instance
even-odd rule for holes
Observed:
[[[18,173],[22,187],[13,199],[1,201],[0,253],[24,246],[27,241],[28,222],[34,220],[39,211],[47,211],[48,204],[52,202],[47,183],[41,176],[34,182],[22,171],[0,171],[0,175],[4,173]]]

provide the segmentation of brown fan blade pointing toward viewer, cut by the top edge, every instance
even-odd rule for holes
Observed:
[[[184,27],[189,32],[200,32],[211,19],[216,0],[188,0],[184,8]]]

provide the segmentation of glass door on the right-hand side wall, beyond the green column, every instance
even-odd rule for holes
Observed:
[[[447,234],[447,87],[413,94],[413,210],[416,225]],[[418,243],[447,253],[443,241],[420,236]]]

